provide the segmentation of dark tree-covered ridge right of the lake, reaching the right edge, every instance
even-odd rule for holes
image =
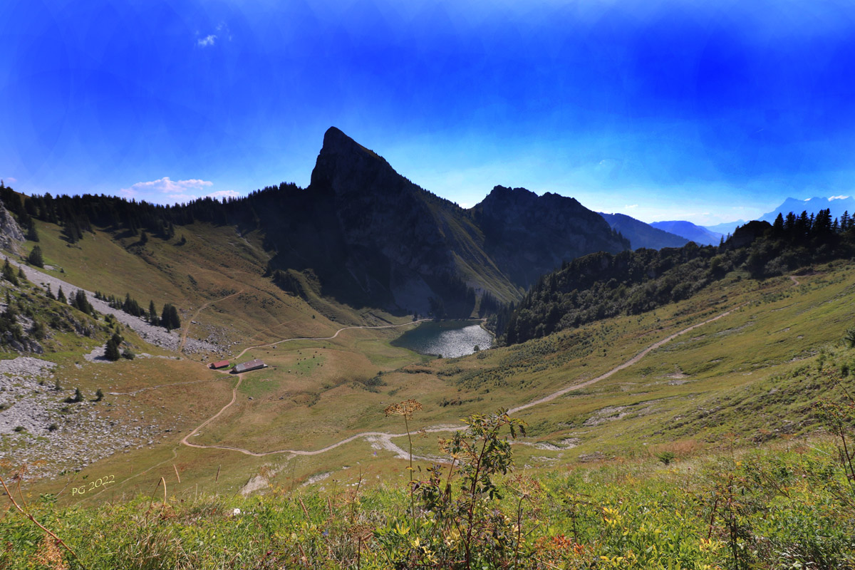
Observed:
[[[693,296],[731,271],[751,279],[781,275],[811,263],[855,254],[855,222],[829,211],[803,212],[775,224],[752,221],[718,247],[595,253],[543,275],[519,306],[494,317],[507,344],[545,337],[619,314],[640,314]]]

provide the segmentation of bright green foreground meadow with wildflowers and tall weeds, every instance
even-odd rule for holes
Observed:
[[[250,498],[174,496],[161,483],[151,497],[59,508],[12,487],[74,555],[11,511],[0,567],[852,568],[855,489],[841,441],[533,475],[482,461],[484,487],[469,487],[463,454],[451,476],[449,466],[433,481],[416,473],[412,495],[407,476]]]

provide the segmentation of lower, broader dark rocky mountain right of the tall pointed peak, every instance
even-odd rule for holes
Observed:
[[[563,261],[629,248],[602,216],[558,194],[539,197],[525,188],[496,186],[473,212],[487,254],[525,288]]]

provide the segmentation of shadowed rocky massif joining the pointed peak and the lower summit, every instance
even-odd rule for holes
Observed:
[[[352,305],[468,315],[475,291],[514,300],[564,260],[628,243],[573,198],[497,186],[464,210],[404,178],[332,127],[304,191],[259,212],[274,269],[312,269]]]

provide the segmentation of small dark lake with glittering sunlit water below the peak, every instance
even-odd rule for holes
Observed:
[[[475,346],[482,350],[492,347],[492,335],[472,320],[429,321],[404,332],[392,344],[423,355],[453,358],[471,355]]]

